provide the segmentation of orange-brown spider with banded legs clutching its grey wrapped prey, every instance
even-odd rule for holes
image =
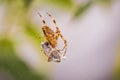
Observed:
[[[45,53],[45,55],[48,57],[48,62],[50,61],[55,61],[55,62],[60,62],[62,58],[66,55],[66,50],[67,50],[67,41],[64,39],[64,37],[61,34],[60,29],[58,28],[55,19],[52,17],[51,14],[47,13],[47,15],[50,17],[52,22],[55,25],[56,31],[53,31],[45,22],[44,18],[40,13],[38,13],[42,22],[43,22],[43,27],[42,31],[44,33],[44,37],[46,38],[47,41],[42,43],[42,49]],[[61,38],[64,42],[64,47],[61,50],[57,49],[57,42],[58,38]],[[64,51],[62,54],[61,51]]]

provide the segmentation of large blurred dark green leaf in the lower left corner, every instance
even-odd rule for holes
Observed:
[[[46,80],[45,75],[37,74],[17,56],[9,39],[0,40],[0,77],[7,80]]]

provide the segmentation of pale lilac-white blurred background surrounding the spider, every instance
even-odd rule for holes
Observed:
[[[77,4],[85,4],[88,1],[75,0]],[[3,9],[4,7],[1,6],[1,26]],[[34,47],[36,45],[27,41],[29,38],[24,39],[26,37],[24,34],[21,37],[19,32],[16,34],[16,31],[13,31],[11,34],[17,37],[12,38],[22,40],[17,51],[25,63],[35,70],[40,70],[38,72],[43,70],[50,75],[51,80],[115,80],[113,73],[120,41],[120,0],[112,0],[112,3],[107,6],[99,3],[91,5],[82,16],[76,19],[70,12],[41,4],[33,7],[29,14],[32,15],[33,23],[42,25],[36,11],[41,12],[51,26],[53,24],[45,13],[49,12],[54,16],[68,42],[67,59],[61,63],[46,62],[46,58],[41,58],[39,49]],[[0,33],[2,33],[1,27]]]

